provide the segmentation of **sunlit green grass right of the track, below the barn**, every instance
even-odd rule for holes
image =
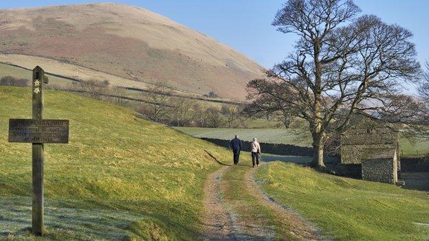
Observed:
[[[426,192],[320,174],[274,162],[256,173],[263,190],[333,240],[428,240]]]

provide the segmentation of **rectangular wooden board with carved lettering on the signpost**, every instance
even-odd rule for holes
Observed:
[[[69,143],[68,119],[9,119],[9,142]]]

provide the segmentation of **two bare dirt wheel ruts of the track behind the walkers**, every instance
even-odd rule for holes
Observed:
[[[225,173],[234,172],[233,165],[225,165],[208,176],[204,184],[204,211],[203,240],[322,240],[318,230],[309,222],[300,218],[292,209],[276,203],[275,200],[263,194],[261,188],[254,181],[255,169],[248,168],[241,179],[241,187],[250,194],[254,200],[268,207],[276,217],[276,223],[281,228],[287,227],[287,238],[282,238],[282,233],[273,233],[267,225],[267,220],[247,220],[246,215],[234,210],[236,204],[228,203],[223,198],[224,187],[228,185]],[[237,177],[239,179],[240,177]],[[244,202],[244,201],[243,201]],[[242,205],[242,204],[241,204]],[[254,217],[254,216],[253,216]],[[243,222],[244,220],[244,222]],[[259,225],[252,225],[252,224]]]

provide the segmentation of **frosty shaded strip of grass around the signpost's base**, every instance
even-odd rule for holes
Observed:
[[[94,204],[94,201],[92,203]],[[120,205],[120,202],[117,205]],[[45,200],[46,233],[43,238],[44,240],[130,240],[130,237],[149,238],[152,232],[165,236],[164,231],[168,231],[170,238],[171,236],[175,238],[174,233],[181,232],[190,233],[191,236],[192,233],[193,236],[199,234],[178,222],[181,213],[184,212],[179,209],[179,205],[155,202],[135,202],[132,205],[156,211],[70,208],[73,204]],[[159,210],[164,212],[159,214]],[[177,216],[172,215],[175,213]],[[0,198],[0,240],[8,238],[32,240],[31,226],[30,198]],[[177,238],[180,239],[180,237]]]

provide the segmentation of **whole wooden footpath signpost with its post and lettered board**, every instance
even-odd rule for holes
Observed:
[[[33,117],[9,119],[9,142],[32,143],[32,233],[43,234],[43,148],[45,143],[69,142],[67,119],[43,119],[43,83],[47,84],[45,71],[39,66],[33,69]]]

